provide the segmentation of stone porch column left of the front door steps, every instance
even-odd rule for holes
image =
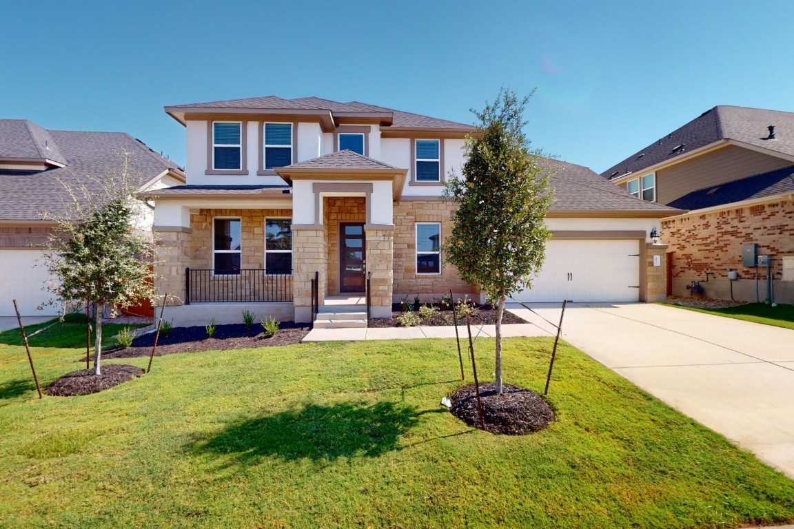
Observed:
[[[313,319],[311,313],[311,281],[319,273],[319,304],[326,299],[328,271],[328,236],[322,224],[292,224],[292,294],[295,321]]]

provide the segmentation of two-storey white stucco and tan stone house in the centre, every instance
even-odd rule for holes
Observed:
[[[360,102],[275,96],[166,112],[186,127],[187,185],[145,197],[156,203],[154,229],[164,249],[156,286],[176,297],[169,310],[175,324],[240,321],[245,307],[258,316],[309,321],[315,275],[324,305],[331,297],[361,296],[371,274],[374,317],[390,316],[392,303],[404,297],[477,293],[440,250],[455,207],[442,191],[451,172],[461,174],[471,125]],[[652,259],[663,249],[648,249],[649,233],[675,210],[563,165],[555,182],[565,191],[549,215],[561,240],[549,246],[557,266],[536,289],[515,296],[663,295],[661,265]],[[592,254],[598,259],[588,259]],[[588,269],[596,261],[601,267]],[[626,269],[619,289],[604,279],[616,268]]]

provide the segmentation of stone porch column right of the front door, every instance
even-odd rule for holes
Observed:
[[[367,273],[372,273],[373,318],[391,318],[394,286],[394,224],[366,224]]]

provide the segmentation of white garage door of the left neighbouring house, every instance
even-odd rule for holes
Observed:
[[[50,275],[40,260],[42,253],[40,250],[0,250],[0,316],[16,316],[14,299],[22,316],[58,315],[59,305],[36,309],[52,297],[44,290]]]

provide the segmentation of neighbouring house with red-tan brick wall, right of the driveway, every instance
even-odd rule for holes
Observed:
[[[689,295],[696,281],[708,297],[764,301],[766,266],[742,259],[742,245],[757,243],[774,301],[794,302],[794,113],[715,106],[602,176],[689,210],[661,224],[669,293]]]

